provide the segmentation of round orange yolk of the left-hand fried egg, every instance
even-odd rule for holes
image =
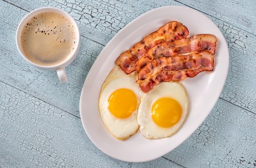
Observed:
[[[116,117],[127,118],[137,108],[137,98],[129,89],[118,89],[108,99],[108,109]]]

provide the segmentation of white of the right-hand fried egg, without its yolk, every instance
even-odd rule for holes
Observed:
[[[155,123],[151,116],[153,103],[160,98],[169,97],[175,99],[182,107],[182,116],[175,125],[164,128]],[[137,122],[141,134],[148,139],[170,137],[180,128],[188,112],[188,97],[184,86],[180,82],[162,82],[155,85],[141,97],[138,109]]]

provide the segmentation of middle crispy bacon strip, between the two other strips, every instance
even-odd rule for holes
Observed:
[[[217,38],[211,34],[198,34],[191,38],[183,38],[171,42],[164,42],[148,50],[145,56],[142,56],[137,63],[137,72],[141,70],[148,62],[161,56],[169,57],[182,55],[192,51],[209,51],[215,54]]]

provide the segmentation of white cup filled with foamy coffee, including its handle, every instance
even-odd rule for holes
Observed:
[[[52,12],[57,13],[57,14],[54,15],[54,13],[52,13]],[[51,17],[48,17],[51,19],[54,18],[55,16],[56,17],[60,16],[60,15],[64,16],[62,18],[67,19],[67,22],[69,24],[68,27],[67,27],[67,25],[63,26],[63,27],[66,27],[65,29],[63,27],[61,27],[62,26],[61,23],[66,23],[66,22],[63,22],[63,20],[60,22],[57,22],[57,21],[55,22],[55,20],[49,21],[48,19],[44,18],[45,20],[43,22],[39,23],[38,20],[40,20],[40,19],[43,20],[43,15],[46,16],[46,18],[47,18],[49,13],[54,15],[54,16],[51,15]],[[42,18],[40,18],[41,16],[42,16]],[[59,17],[59,18],[61,18],[61,17]],[[56,19],[56,20],[58,20],[58,19]],[[59,19],[59,20],[61,20],[61,19]],[[37,22],[38,22],[38,24],[37,24]],[[49,22],[50,26],[46,25],[46,23],[48,23],[48,22]],[[56,25],[53,27],[50,23],[52,25],[55,23]],[[42,25],[42,26],[40,27],[38,25],[40,25],[40,26]],[[35,29],[35,27],[36,27],[36,29]],[[49,29],[46,27],[49,27]],[[63,33],[63,32],[61,32],[61,30],[67,31],[67,32]],[[27,32],[27,34],[26,34],[26,32]],[[33,32],[33,35],[31,32]],[[72,35],[70,35],[70,33]],[[30,35],[28,35],[28,34],[30,34]],[[61,37],[62,35],[64,36],[64,34],[65,35],[68,34],[70,36],[65,37],[65,38]],[[33,38],[30,38],[32,36],[33,36]],[[50,37],[50,36],[52,36],[52,37]],[[42,37],[43,40],[41,40],[39,37]],[[54,38],[54,40],[52,40],[52,38]],[[61,38],[63,38],[63,39],[61,39]],[[74,41],[67,40],[69,38],[74,39]],[[51,39],[51,40],[49,40],[49,39]],[[61,41],[61,40],[63,40],[63,41]],[[50,45],[48,44],[47,41],[49,41],[50,44],[52,44],[50,49],[48,49]],[[76,58],[76,55],[79,52],[80,32],[79,32],[79,28],[76,24],[76,21],[66,11],[59,9],[59,8],[55,8],[55,7],[42,7],[42,8],[36,9],[34,11],[31,11],[21,20],[21,22],[17,28],[17,32],[16,32],[16,45],[18,47],[20,54],[22,55],[22,57],[25,60],[27,60],[28,63],[30,63],[31,65],[34,65],[34,67],[37,67],[38,69],[41,69],[41,70],[46,70],[46,71],[55,71],[56,70],[61,83],[65,83],[68,81],[65,67],[67,65],[69,65],[70,63],[72,63],[72,61]],[[40,47],[41,45],[45,46],[45,47]],[[46,53],[45,56],[48,56],[49,58],[48,57],[43,58],[44,54],[42,54],[42,52]],[[52,54],[51,52],[54,54]],[[66,53],[66,55],[63,53],[60,54],[63,56],[65,55],[66,58],[61,58],[61,60],[58,60],[59,56],[57,56],[57,55],[60,52]],[[36,54],[31,54],[31,53],[36,53]],[[32,58],[35,55],[39,56],[40,59],[39,59],[39,57]],[[54,59],[54,61],[56,61],[56,63],[48,64],[48,63],[50,63],[50,61],[52,61],[52,60],[48,60],[48,59]],[[43,60],[43,61],[47,62],[47,64],[44,64],[44,63],[42,64],[38,60],[40,60],[40,61]]]

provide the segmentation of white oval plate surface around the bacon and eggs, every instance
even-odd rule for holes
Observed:
[[[100,116],[98,100],[101,85],[122,52],[173,20],[189,29],[188,37],[213,34],[218,38],[214,70],[201,72],[194,78],[182,81],[188,92],[190,106],[187,119],[176,134],[153,140],[144,138],[138,131],[126,141],[118,140],[108,132]],[[229,50],[226,40],[218,27],[202,13],[181,6],[159,7],[148,11],[117,33],[92,65],[81,92],[80,115],[83,128],[94,145],[110,157],[129,162],[144,162],[161,157],[179,146],[202,124],[220,96],[228,68]]]

